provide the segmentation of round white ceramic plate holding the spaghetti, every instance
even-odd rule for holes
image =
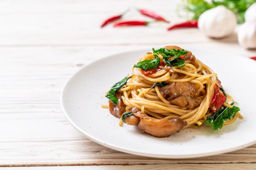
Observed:
[[[123,124],[101,104],[114,83],[130,73],[139,57],[151,50],[115,54],[85,66],[61,94],[61,105],[70,123],[86,137],[103,146],[135,155],[159,158],[192,158],[226,153],[256,143],[256,62],[220,51],[188,49],[213,69],[226,92],[234,97],[244,116],[214,131],[210,126],[184,129],[170,137],[142,134],[137,126]]]

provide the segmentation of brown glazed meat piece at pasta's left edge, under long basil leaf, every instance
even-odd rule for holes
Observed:
[[[109,111],[110,113],[117,117],[117,118],[121,118],[122,114],[124,112],[126,112],[126,105],[124,104],[121,96],[122,96],[122,93],[121,92],[117,92],[117,94],[115,95],[118,99],[118,102],[117,102],[117,105],[115,105],[114,103],[112,103],[110,100],[109,100]]]

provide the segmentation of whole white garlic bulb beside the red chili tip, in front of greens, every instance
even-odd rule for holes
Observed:
[[[234,32],[236,22],[236,15],[220,5],[200,15],[198,28],[208,37],[222,38]]]

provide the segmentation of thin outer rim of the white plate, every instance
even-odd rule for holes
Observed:
[[[200,50],[200,48],[192,48],[193,50]],[[120,148],[120,147],[116,147],[112,144],[108,144],[104,141],[102,141],[101,139],[97,139],[96,137],[93,137],[92,135],[89,135],[88,133],[86,133],[85,131],[83,131],[81,128],[79,128],[72,120],[71,118],[68,116],[68,113],[65,111],[65,108],[64,108],[64,98],[63,98],[63,94],[67,88],[67,85],[68,83],[72,80],[72,78],[74,78],[74,76],[76,76],[77,74],[79,74],[80,72],[82,72],[82,70],[84,70],[85,68],[89,67],[90,65],[94,65],[95,63],[103,60],[103,59],[106,59],[106,58],[110,58],[112,56],[115,56],[117,54],[121,55],[121,54],[126,54],[126,53],[129,53],[129,52],[142,52],[142,51],[146,51],[148,50],[147,48],[141,48],[141,49],[138,49],[138,50],[127,50],[127,51],[124,51],[124,52],[117,52],[117,53],[113,53],[113,54],[109,54],[109,55],[106,55],[105,57],[102,57],[101,59],[97,59],[87,65],[84,65],[82,68],[80,68],[79,70],[77,70],[76,72],[74,72],[72,74],[72,76],[70,76],[70,78],[68,78],[68,80],[65,82],[65,85],[63,86],[63,89],[61,91],[61,98],[60,98],[60,102],[61,102],[61,109],[65,115],[65,117],[67,118],[67,120],[70,122],[70,124],[79,132],[81,132],[83,135],[85,135],[85,137],[87,137],[88,139],[92,140],[93,142],[96,142],[97,144],[100,144],[102,146],[106,146],[107,148],[111,148],[113,150],[117,150],[117,151],[121,151],[121,152],[124,152],[124,153],[129,153],[129,154],[133,154],[133,155],[139,155],[139,156],[144,156],[144,157],[153,157],[153,158],[164,158],[164,159],[183,159],[183,158],[197,158],[197,157],[207,157],[207,156],[213,156],[213,155],[218,155],[218,154],[223,154],[223,153],[229,153],[229,152],[232,152],[232,151],[235,151],[235,150],[240,150],[242,148],[246,148],[248,146],[252,146],[254,144],[256,144],[256,140],[255,141],[252,141],[252,142],[249,142],[249,143],[246,143],[246,144],[243,144],[241,146],[237,146],[237,147],[233,147],[233,148],[228,148],[228,149],[225,149],[225,150],[219,150],[219,151],[212,151],[212,152],[207,152],[207,153],[198,153],[198,154],[183,154],[183,155],[170,155],[170,154],[166,154],[166,155],[160,155],[160,154],[155,154],[155,153],[143,153],[143,152],[138,152],[138,151],[135,151],[135,150],[128,150],[128,149],[125,149],[125,148]],[[209,49],[210,50],[210,49]],[[225,52],[227,54],[231,54],[229,52]],[[239,56],[237,54],[232,54],[233,56]],[[241,57],[241,56],[239,56]],[[247,57],[242,57],[243,59],[249,59]]]

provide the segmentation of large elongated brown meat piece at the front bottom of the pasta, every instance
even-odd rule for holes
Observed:
[[[132,108],[132,113],[140,119],[138,124],[139,129],[155,137],[170,136],[171,134],[180,131],[187,124],[180,118],[170,120],[156,119],[148,116],[146,113],[142,113],[136,107]]]

